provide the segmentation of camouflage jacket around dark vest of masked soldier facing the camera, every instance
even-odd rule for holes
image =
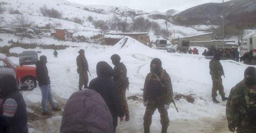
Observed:
[[[164,104],[169,105],[172,100],[173,100],[173,86],[172,86],[172,81],[168,75],[168,73],[165,70],[161,70],[161,76],[159,77],[160,82],[163,86],[164,93],[160,97],[160,99],[164,100]],[[151,78],[156,78],[153,72],[147,74],[145,83],[144,83],[144,88],[143,88],[143,101],[146,102],[148,100],[148,90],[146,88],[148,81],[150,81]]]

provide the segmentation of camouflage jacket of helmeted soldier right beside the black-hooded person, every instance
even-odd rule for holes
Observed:
[[[114,67],[113,80],[115,81],[117,87],[127,87],[127,85],[129,84],[129,81],[127,79],[127,70],[123,63],[120,63]]]

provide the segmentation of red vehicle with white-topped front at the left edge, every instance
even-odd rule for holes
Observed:
[[[37,83],[34,66],[18,66],[8,59],[5,54],[0,53],[0,68],[1,67],[14,69],[18,78],[22,81],[22,84],[29,86],[29,90],[33,90],[36,87]]]

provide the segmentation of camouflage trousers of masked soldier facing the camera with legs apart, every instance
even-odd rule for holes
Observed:
[[[169,118],[168,112],[164,109],[164,102],[163,100],[148,100],[146,105],[146,110],[144,114],[144,132],[150,132],[150,126],[152,123],[152,115],[154,114],[155,110],[158,109],[160,113],[160,122],[162,125],[162,132],[167,132],[167,128],[169,126]]]

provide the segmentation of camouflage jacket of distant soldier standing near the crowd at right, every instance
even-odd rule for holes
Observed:
[[[210,68],[210,75],[212,77],[221,77],[222,75],[224,75],[224,71],[223,71],[221,62],[219,60],[212,59],[209,64],[209,68]]]

